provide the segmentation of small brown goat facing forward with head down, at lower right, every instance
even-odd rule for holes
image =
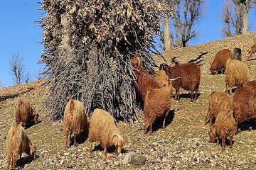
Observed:
[[[208,135],[210,137],[210,142],[215,142],[217,137],[221,137],[222,148],[225,149],[225,140],[227,137],[230,139],[230,148],[232,148],[232,140],[235,135],[237,128],[237,124],[235,123],[235,119],[233,117],[232,111],[220,111],[217,115],[215,124],[210,126],[210,132]]]

